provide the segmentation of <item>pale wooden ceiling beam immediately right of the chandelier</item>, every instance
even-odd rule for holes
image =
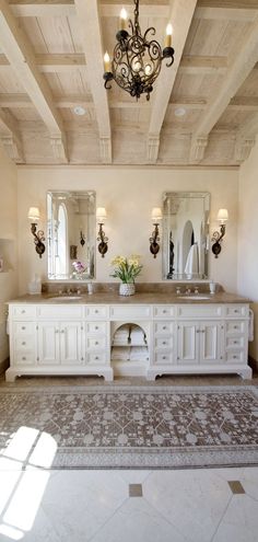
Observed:
[[[183,56],[187,34],[195,13],[197,0],[171,1],[169,21],[173,23],[173,46],[175,48],[175,61],[172,68],[163,66],[155,83],[155,91],[151,96],[152,114],[146,140],[146,159],[155,163],[159,155],[160,134],[169,103],[172,90],[175,83],[177,70]]]

